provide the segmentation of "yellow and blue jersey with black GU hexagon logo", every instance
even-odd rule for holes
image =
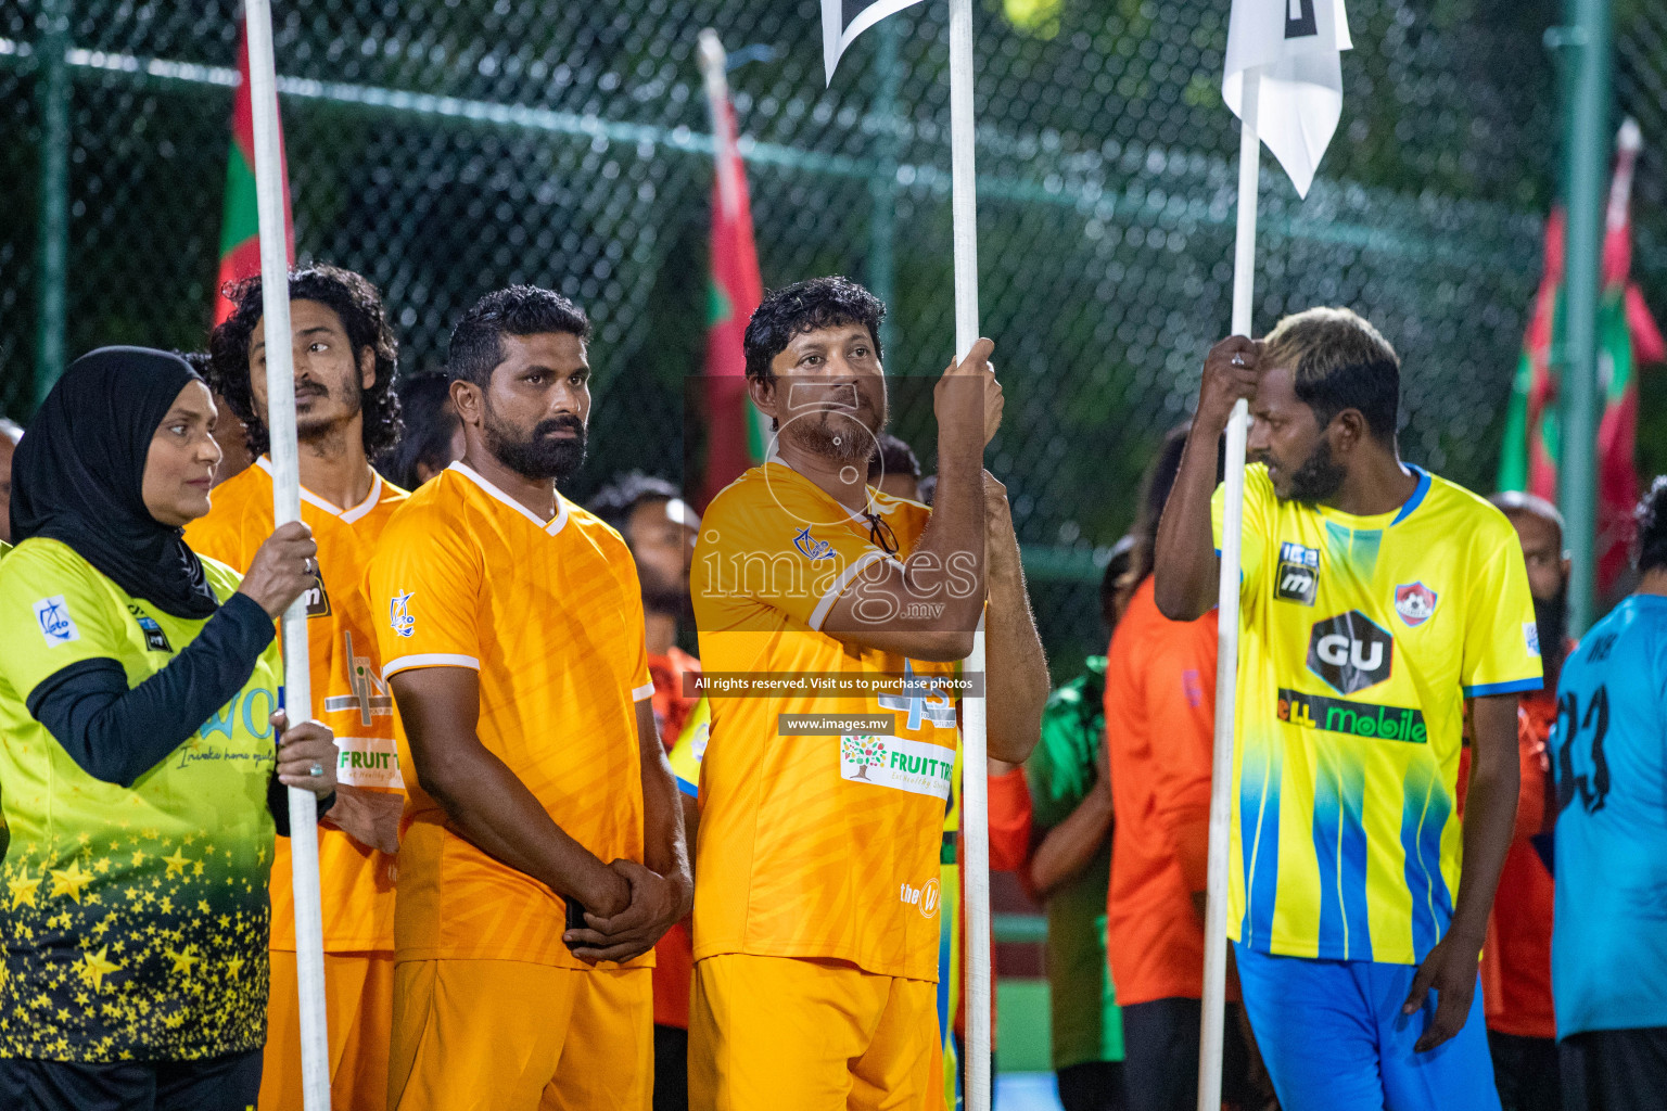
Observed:
[[[1464,700],[1540,686],[1515,530],[1412,470],[1375,516],[1245,470],[1227,921],[1259,953],[1422,961],[1459,891]]]

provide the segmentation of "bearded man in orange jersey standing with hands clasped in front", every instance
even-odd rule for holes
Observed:
[[[463,458],[370,560],[408,745],[388,1104],[647,1111],[653,958],[688,913],[618,533],[557,493],[585,451],[590,321],[548,290],[452,333]]]

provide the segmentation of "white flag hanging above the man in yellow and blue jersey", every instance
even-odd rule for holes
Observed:
[[[822,2],[823,12],[825,5],[840,3]],[[1285,167],[1297,197],[1309,195],[1314,170],[1342,117],[1342,52],[1352,45],[1344,0],[1234,0],[1222,100],[1244,118],[1244,73],[1262,68],[1252,123]]]

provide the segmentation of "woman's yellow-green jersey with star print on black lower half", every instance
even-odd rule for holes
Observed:
[[[238,586],[225,565],[203,571],[222,601]],[[25,703],[83,660],[115,660],[137,686],[203,625],[57,540],[0,565],[0,1056],[198,1059],[265,1041],[277,643],[132,788],[87,775]]]

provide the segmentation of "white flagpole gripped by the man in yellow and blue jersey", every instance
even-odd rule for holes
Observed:
[[[1250,336],[1255,283],[1255,208],[1262,142],[1255,133],[1262,73],[1244,73],[1239,132],[1239,235],[1234,242],[1234,335]],[[1215,755],[1210,763],[1210,866],[1204,914],[1204,1019],[1199,1033],[1199,1111],[1222,1106],[1222,1016],[1227,1003],[1227,838],[1232,816],[1234,711],[1239,695],[1239,566],[1245,516],[1245,433],[1249,410],[1234,405],[1227,421],[1227,498],[1222,518],[1215,653]]]

